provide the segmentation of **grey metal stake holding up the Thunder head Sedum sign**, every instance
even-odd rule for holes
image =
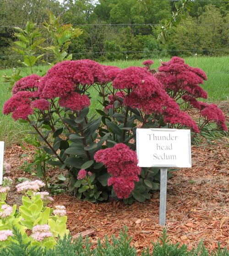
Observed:
[[[167,172],[168,168],[160,168],[161,170],[161,183],[160,183],[160,213],[159,224],[165,226],[166,218],[166,194],[167,194]]]

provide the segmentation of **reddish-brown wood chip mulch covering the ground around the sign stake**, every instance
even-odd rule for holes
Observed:
[[[207,248],[214,249],[219,241],[222,247],[229,248],[228,142],[224,137],[214,145],[192,146],[192,168],[180,169],[169,179],[166,229],[172,242],[186,244],[191,249],[203,240]],[[30,147],[25,152],[21,146],[14,145],[5,151],[5,161],[12,166],[11,178],[35,178],[20,168],[23,161],[32,161],[33,150]],[[13,190],[8,200],[16,202],[19,197]],[[157,241],[162,232],[158,225],[159,192],[151,200],[131,206],[120,201],[96,205],[67,194],[54,198],[53,205],[67,208],[71,234],[94,230],[90,236],[94,245],[105,235],[118,235],[127,226],[138,252],[147,245],[152,250],[151,242]]]

